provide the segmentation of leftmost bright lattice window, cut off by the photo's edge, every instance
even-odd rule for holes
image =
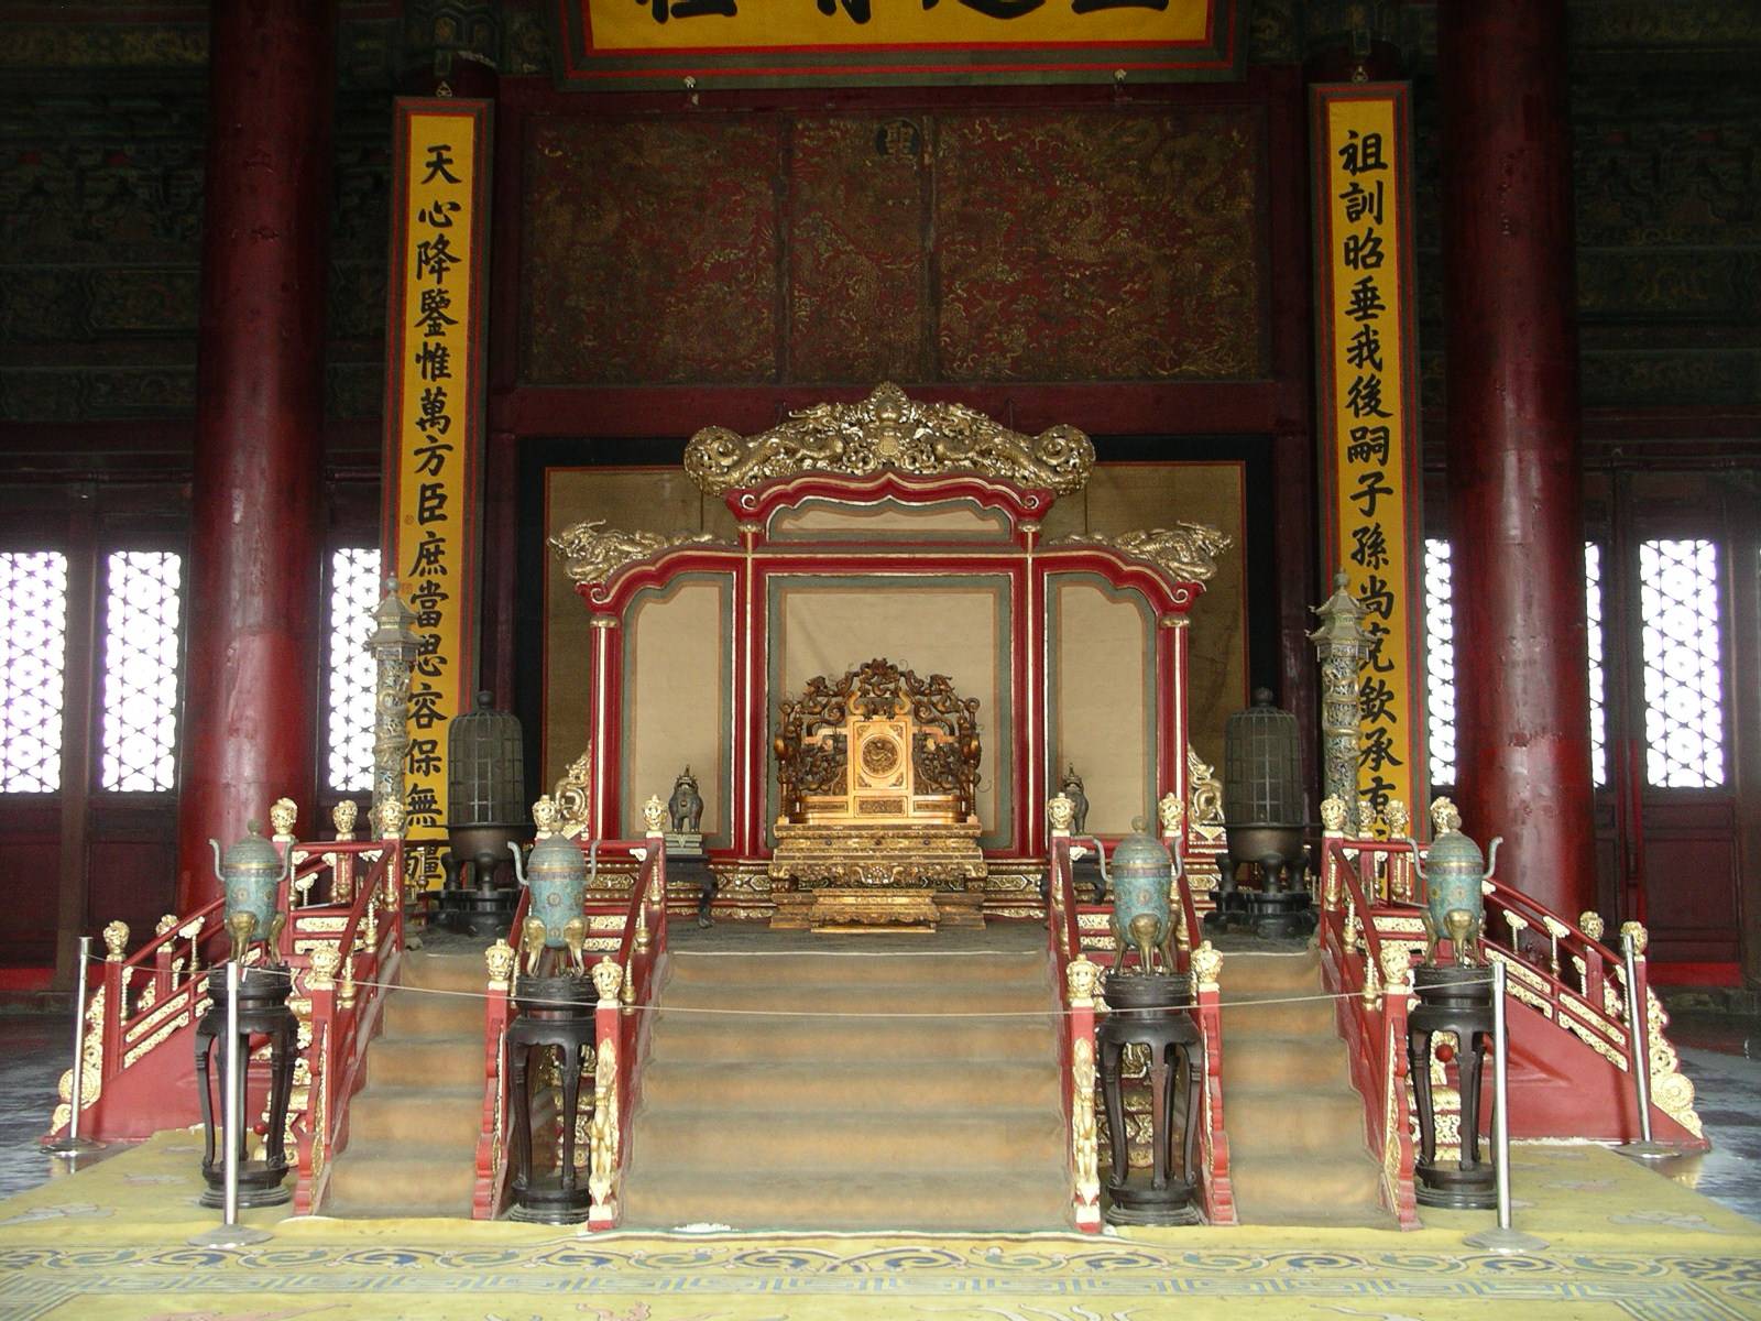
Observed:
[[[67,557],[0,555],[0,793],[62,787]]]

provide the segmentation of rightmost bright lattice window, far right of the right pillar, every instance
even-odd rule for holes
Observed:
[[[1661,789],[1724,784],[1724,680],[1719,673],[1719,548],[1639,544],[1645,618],[1645,779]]]

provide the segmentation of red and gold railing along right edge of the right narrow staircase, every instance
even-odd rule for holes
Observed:
[[[1386,886],[1400,879],[1400,854],[1391,842],[1354,840],[1352,852],[1337,835],[1323,840],[1321,967],[1335,1000],[1345,1041],[1351,1081],[1365,1101],[1370,1154],[1382,1168],[1382,1203],[1402,1229],[1419,1226],[1412,1189],[1412,1133],[1407,1094],[1407,997],[1411,953],[1384,944],[1377,909]],[[1384,985],[1386,983],[1386,985]]]

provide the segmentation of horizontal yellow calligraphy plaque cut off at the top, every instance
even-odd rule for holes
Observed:
[[[1233,77],[1238,0],[560,0],[593,88]]]

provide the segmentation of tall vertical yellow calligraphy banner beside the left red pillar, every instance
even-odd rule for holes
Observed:
[[[475,680],[490,102],[400,99],[386,370],[384,564],[416,611],[407,835],[447,817],[447,720]],[[424,881],[437,849],[412,849]]]

